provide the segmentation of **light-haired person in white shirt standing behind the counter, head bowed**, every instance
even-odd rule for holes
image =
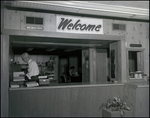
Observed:
[[[26,73],[26,79],[28,81],[38,81],[39,68],[37,63],[30,58],[30,55],[25,52],[21,55],[22,60],[28,64],[28,72]]]

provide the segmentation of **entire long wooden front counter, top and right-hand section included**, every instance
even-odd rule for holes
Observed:
[[[149,115],[149,83],[53,83],[9,89],[10,117],[102,117],[101,105],[124,99],[134,116]]]

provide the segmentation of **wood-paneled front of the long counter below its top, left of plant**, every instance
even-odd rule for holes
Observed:
[[[10,90],[10,116],[101,117],[108,98],[123,97],[123,85]]]

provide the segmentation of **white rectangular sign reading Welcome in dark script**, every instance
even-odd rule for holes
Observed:
[[[103,34],[103,20],[57,15],[56,31],[64,33]]]

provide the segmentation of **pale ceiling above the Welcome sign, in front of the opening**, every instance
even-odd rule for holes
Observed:
[[[149,20],[147,1],[7,1],[6,6],[54,12]],[[30,9],[30,10],[31,10]]]

